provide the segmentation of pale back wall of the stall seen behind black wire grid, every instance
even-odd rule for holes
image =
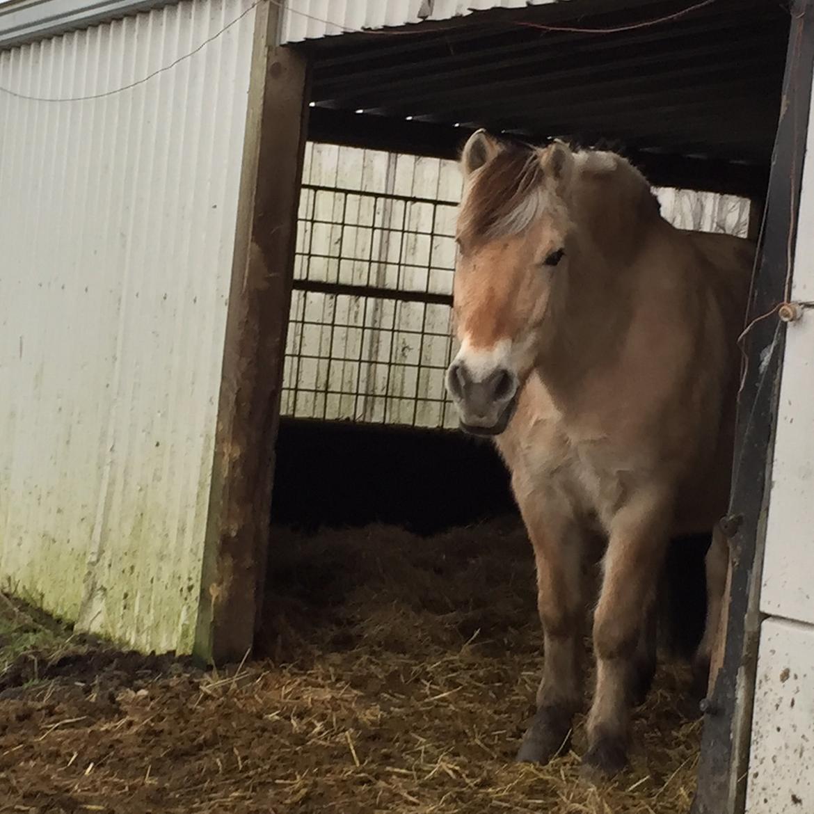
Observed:
[[[444,368],[457,351],[451,309],[420,294],[452,294],[457,163],[309,144],[303,184],[282,412],[457,427],[444,392]],[[746,235],[746,199],[669,188],[657,194],[664,217],[680,228]],[[314,281],[419,293],[399,302],[296,290]]]

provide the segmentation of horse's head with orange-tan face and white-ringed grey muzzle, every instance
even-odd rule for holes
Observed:
[[[447,389],[462,428],[499,435],[531,373],[567,274],[574,155],[558,142],[507,146],[483,130],[462,154],[454,310],[461,350]]]

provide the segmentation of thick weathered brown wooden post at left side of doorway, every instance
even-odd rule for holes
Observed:
[[[260,614],[291,306],[308,59],[260,3],[252,52],[196,654],[242,659]]]

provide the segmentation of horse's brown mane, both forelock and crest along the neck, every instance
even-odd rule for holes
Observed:
[[[637,215],[659,212],[650,183],[623,156],[562,148],[567,150],[570,164],[563,180],[558,177],[562,167],[546,163],[550,149],[504,146],[471,173],[458,212],[458,238],[463,243],[488,243],[519,234],[545,209],[567,217],[565,201],[558,194],[562,186],[570,187],[571,193],[579,195],[580,204],[590,209],[606,212],[609,198],[615,197]]]

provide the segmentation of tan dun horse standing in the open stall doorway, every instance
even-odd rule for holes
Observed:
[[[584,694],[589,552],[596,684],[583,771],[625,768],[631,710],[656,668],[671,537],[712,531],[696,676],[708,676],[729,549],[742,329],[755,246],[679,230],[621,155],[505,142],[461,156],[445,383],[461,427],[492,436],[536,562],[544,667],[518,759],[567,744]]]

